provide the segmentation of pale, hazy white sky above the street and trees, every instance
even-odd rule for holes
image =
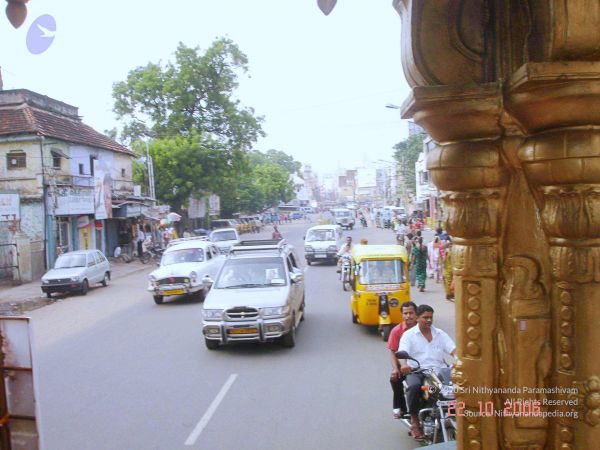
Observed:
[[[129,71],[173,60],[179,42],[206,50],[225,36],[248,56],[236,96],[264,116],[267,136],[257,150],[281,150],[323,175],[385,166],[392,146],[407,137],[400,111],[386,108],[409,94],[391,0],[338,0],[329,16],[316,0],[31,0],[27,6],[17,30],[0,19],[4,89],[77,106],[98,131],[122,126],[112,112],[112,85]],[[45,14],[56,21],[55,38],[32,54],[27,33]]]

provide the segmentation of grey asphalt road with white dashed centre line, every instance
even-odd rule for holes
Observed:
[[[301,251],[308,226],[280,229]],[[393,242],[388,230],[349,234]],[[418,447],[392,419],[388,350],[352,324],[334,266],[306,269],[306,320],[293,349],[209,351],[202,304],[155,305],[146,276],[31,313],[44,449]],[[430,288],[413,299],[432,305],[453,336],[454,305],[440,285]]]

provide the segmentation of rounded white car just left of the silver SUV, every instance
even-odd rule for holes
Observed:
[[[225,256],[206,237],[175,239],[163,253],[160,267],[149,276],[148,291],[160,305],[170,295],[200,295],[210,289],[206,279],[214,278]]]

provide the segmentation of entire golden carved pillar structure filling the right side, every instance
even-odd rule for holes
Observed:
[[[413,88],[403,117],[439,143],[428,167],[456,242],[458,400],[578,414],[465,417],[458,447],[596,448],[600,3],[393,4]]]

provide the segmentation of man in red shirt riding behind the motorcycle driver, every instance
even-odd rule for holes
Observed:
[[[400,373],[400,362],[396,358],[396,352],[400,345],[400,338],[404,332],[417,324],[417,305],[413,302],[404,302],[400,306],[402,311],[402,322],[392,328],[388,337],[387,348],[391,353],[392,373],[390,374],[390,384],[394,392],[393,413],[394,419],[399,419],[408,412],[406,400],[404,398],[404,386],[402,381],[404,375]]]

